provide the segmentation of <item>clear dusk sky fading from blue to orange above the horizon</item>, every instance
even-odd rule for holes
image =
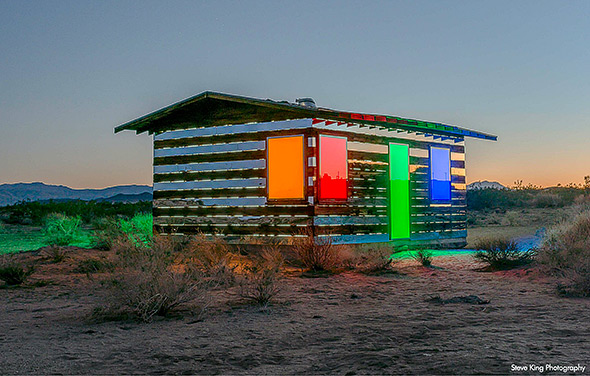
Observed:
[[[467,181],[590,175],[590,1],[0,1],[0,183],[152,183],[113,128],[205,90],[431,120]]]

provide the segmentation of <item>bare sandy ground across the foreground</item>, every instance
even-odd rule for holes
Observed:
[[[52,285],[0,289],[0,373],[510,374],[511,364],[590,366],[590,299],[555,295],[534,269],[478,272],[468,255],[438,257],[437,268],[405,260],[399,274],[384,276],[292,275],[268,309],[220,291],[200,320],[184,313],[149,324],[89,321],[100,294],[85,275],[60,270],[75,257],[33,275]],[[428,301],[468,295],[490,302]]]

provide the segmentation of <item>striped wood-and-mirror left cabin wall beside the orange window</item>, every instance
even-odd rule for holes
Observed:
[[[290,236],[307,202],[267,205],[266,139],[305,135],[311,119],[174,130],[154,136],[154,225],[165,234]]]

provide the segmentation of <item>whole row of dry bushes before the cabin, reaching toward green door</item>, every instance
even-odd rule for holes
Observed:
[[[290,244],[287,252],[294,259],[289,261],[279,244],[261,246],[244,256],[221,238],[202,234],[156,235],[149,245],[117,236],[109,243],[115,261],[106,267],[97,260],[86,261],[78,267],[81,272],[108,274],[101,285],[108,304],[96,314],[142,321],[166,316],[180,307],[199,314],[219,293],[229,292],[246,304],[267,307],[277,301],[288,265],[308,273],[353,269],[372,274],[391,271],[393,263],[393,250],[388,247],[354,253],[329,239],[311,237]]]

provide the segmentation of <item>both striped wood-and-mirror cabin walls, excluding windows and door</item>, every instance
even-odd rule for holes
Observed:
[[[318,137],[347,138],[348,200],[318,201]],[[266,140],[304,135],[306,197],[267,200]],[[315,139],[310,142],[309,139]],[[337,243],[388,242],[388,145],[408,144],[410,239],[399,244],[463,246],[466,237],[462,138],[437,138],[358,124],[300,119],[213,126],[154,136],[154,225],[165,234],[202,232],[244,241],[299,235],[313,225]],[[451,150],[450,202],[429,197],[429,148]],[[250,242],[256,242],[250,240]]]

